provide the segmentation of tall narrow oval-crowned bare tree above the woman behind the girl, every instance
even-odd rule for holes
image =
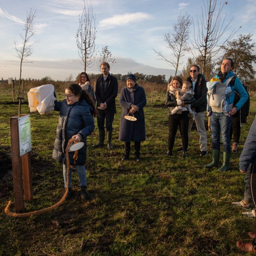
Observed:
[[[94,63],[96,39],[96,17],[93,14],[91,0],[84,0],[84,9],[79,16],[79,27],[76,33],[76,45],[78,47],[79,61],[86,67],[92,67]]]

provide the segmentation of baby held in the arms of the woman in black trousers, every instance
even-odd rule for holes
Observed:
[[[193,97],[193,95],[195,93],[191,90],[190,87],[191,87],[191,83],[189,81],[185,81],[182,84],[181,91],[176,91],[177,107],[175,107],[172,110],[172,114],[179,113],[179,112],[181,113],[182,112],[182,101],[189,100]],[[193,116],[195,115],[195,112],[192,111],[191,105],[186,104],[185,108],[188,109],[189,114],[191,114],[190,116],[193,118]]]

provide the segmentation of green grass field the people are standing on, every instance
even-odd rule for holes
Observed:
[[[63,92],[58,92],[58,100]],[[193,130],[189,155],[163,157],[167,149],[168,115],[165,95],[156,94],[145,107],[147,140],[142,143],[143,162],[122,162],[123,144],[118,141],[121,108],[114,119],[113,150],[94,149],[98,129],[87,138],[87,183],[91,201],[75,195],[57,209],[30,218],[3,213],[13,201],[9,117],[17,116],[11,91],[0,92],[0,255],[244,255],[236,241],[250,241],[254,219],[244,218],[231,206],[243,198],[239,155],[256,113],[251,97],[250,116],[241,131],[239,151],[232,156],[230,171],[204,169],[211,152],[200,157],[199,136]],[[118,102],[118,98],[117,98]],[[29,113],[27,103],[22,113]],[[30,113],[32,131],[32,183],[34,199],[25,211],[55,204],[64,193],[62,166],[52,160],[58,112],[41,116]],[[177,134],[174,150],[180,146]],[[208,149],[211,151],[210,134]],[[131,153],[133,152],[133,149]],[[12,211],[14,207],[12,206]]]

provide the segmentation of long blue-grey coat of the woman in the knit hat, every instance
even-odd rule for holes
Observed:
[[[147,101],[143,87],[135,84],[133,92],[131,92],[128,87],[123,88],[120,93],[119,102],[122,106],[119,140],[125,142],[139,142],[146,140],[143,107],[146,105]],[[129,113],[131,104],[136,105],[139,108],[139,111],[134,113],[134,116],[137,118],[136,121],[129,121],[124,118],[124,116]]]

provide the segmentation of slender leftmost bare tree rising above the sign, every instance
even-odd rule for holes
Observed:
[[[37,16],[36,10],[30,8],[27,12],[26,20],[24,23],[24,34],[20,34],[21,38],[21,46],[17,44],[17,41],[14,41],[16,56],[20,59],[20,79],[19,79],[19,91],[18,97],[20,96],[20,81],[21,81],[21,68],[22,63],[32,63],[32,61],[28,61],[27,58],[30,57],[34,52],[34,44],[31,39],[36,34],[35,30],[35,17]]]

